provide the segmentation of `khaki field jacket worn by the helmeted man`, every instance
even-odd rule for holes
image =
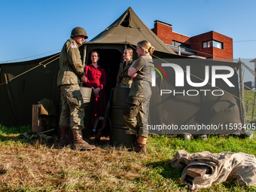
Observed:
[[[59,55],[59,73],[57,85],[80,84],[80,78],[84,75],[81,55],[78,44],[69,39],[66,41]]]

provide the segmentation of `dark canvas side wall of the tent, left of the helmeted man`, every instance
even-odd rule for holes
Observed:
[[[60,92],[56,87],[59,59],[54,60],[46,67],[39,64],[41,62],[47,64],[52,60],[49,58],[54,59],[58,55],[0,65],[1,123],[10,126],[31,124],[32,105],[36,105],[41,99],[47,98],[56,106],[59,105]],[[46,62],[43,62],[45,60]],[[32,70],[29,71],[30,69]]]

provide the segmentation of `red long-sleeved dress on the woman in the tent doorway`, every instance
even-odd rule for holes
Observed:
[[[87,78],[86,87],[97,88],[100,87],[99,97],[94,96],[93,94],[93,116],[104,117],[106,101],[105,101],[105,84],[106,77],[105,71],[101,66],[98,66],[96,69],[93,64],[86,66],[84,69],[85,77]]]

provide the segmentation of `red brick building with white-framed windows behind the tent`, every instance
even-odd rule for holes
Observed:
[[[154,21],[151,29],[175,53],[182,56],[200,56],[206,59],[233,61],[233,39],[218,32],[206,32],[194,37],[172,31],[172,25]]]

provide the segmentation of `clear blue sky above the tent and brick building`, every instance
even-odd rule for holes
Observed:
[[[0,63],[59,53],[76,26],[86,29],[90,41],[131,7],[150,29],[161,20],[190,37],[215,31],[233,38],[233,58],[254,69],[254,0],[1,0],[0,7]],[[245,73],[244,81],[251,79]]]

